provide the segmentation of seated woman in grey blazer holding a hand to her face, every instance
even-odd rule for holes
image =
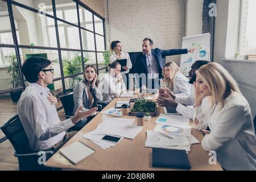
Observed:
[[[74,110],[76,110],[82,105],[82,110],[91,109],[97,107],[97,101],[102,101],[102,95],[98,90],[98,80],[97,72],[93,65],[87,65],[84,68],[84,80],[76,84],[73,89],[73,99],[74,99]],[[96,113],[94,114],[96,115]],[[89,119],[85,118],[76,123],[78,127],[84,127],[88,123]]]

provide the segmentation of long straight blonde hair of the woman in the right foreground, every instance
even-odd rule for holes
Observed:
[[[220,103],[220,109],[224,107],[225,99],[230,93],[237,92],[241,94],[237,82],[229,72],[218,63],[204,65],[197,70],[197,75],[202,77],[202,80],[212,93],[212,105]]]

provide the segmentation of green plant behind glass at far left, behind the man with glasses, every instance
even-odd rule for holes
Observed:
[[[15,53],[5,56],[5,62],[9,64],[7,73],[10,75],[10,84],[13,88],[20,86],[19,65]]]

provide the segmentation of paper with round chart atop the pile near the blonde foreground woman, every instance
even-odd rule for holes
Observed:
[[[187,125],[156,125],[153,131],[167,135],[179,135],[183,137],[191,136],[191,126]]]

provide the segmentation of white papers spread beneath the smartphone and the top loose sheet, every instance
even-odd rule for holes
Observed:
[[[102,130],[105,129],[109,129],[109,125],[112,125],[113,123],[118,123],[118,124],[122,124],[122,125],[132,125],[134,122],[134,119],[125,119],[125,118],[105,118],[104,121],[102,123],[100,123],[97,128],[95,130],[93,130],[90,133],[86,133],[84,135],[82,135],[82,137],[89,139],[90,141],[92,141],[93,143],[97,144],[97,146],[106,149],[109,147],[114,147],[115,144],[117,143],[113,143],[113,142],[108,142],[106,140],[101,140],[106,134],[102,133]],[[105,129],[105,130],[106,130]],[[120,135],[114,135],[114,134],[109,134],[112,136],[118,136],[121,137],[121,140],[123,139],[122,136]],[[119,141],[121,141],[119,140]]]

